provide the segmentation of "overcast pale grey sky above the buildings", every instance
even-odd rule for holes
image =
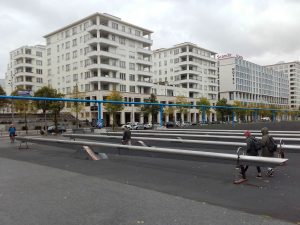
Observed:
[[[260,65],[300,58],[298,0],[1,0],[0,78],[10,51],[95,12],[154,31],[153,49],[189,41]]]

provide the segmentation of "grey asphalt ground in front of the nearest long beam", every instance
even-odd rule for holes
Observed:
[[[20,151],[1,142],[0,224],[300,222],[297,153],[274,177],[257,179],[249,168],[249,180],[234,185],[233,165],[116,155],[88,161],[76,158],[74,146]]]

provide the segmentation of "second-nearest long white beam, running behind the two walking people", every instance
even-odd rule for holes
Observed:
[[[64,137],[71,138],[114,138],[121,140],[122,136],[107,136],[107,135],[92,135],[92,134],[63,134]],[[162,134],[157,134],[157,136],[162,136]],[[182,136],[182,135],[181,135]],[[186,135],[191,137],[191,135]],[[178,135],[176,137],[179,137]],[[154,137],[131,137],[133,140],[147,140],[147,141],[163,141],[163,142],[181,142],[181,143],[190,143],[190,144],[210,144],[210,145],[226,145],[226,146],[236,146],[236,147],[245,147],[247,144],[245,142],[232,142],[232,141],[207,141],[207,140],[190,140],[190,139],[174,139],[174,138],[154,138]],[[245,138],[244,138],[245,139]],[[278,144],[278,148],[280,145]],[[293,149],[300,151],[300,145],[281,145],[283,149]]]

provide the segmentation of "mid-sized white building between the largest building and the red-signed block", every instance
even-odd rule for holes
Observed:
[[[218,95],[216,53],[185,42],[154,51],[154,82],[186,88],[190,98]]]

